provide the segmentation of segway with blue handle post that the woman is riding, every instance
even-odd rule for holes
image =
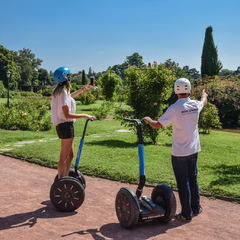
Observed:
[[[51,186],[50,199],[55,208],[62,212],[72,212],[79,208],[85,199],[86,181],[84,175],[77,170],[82,153],[84,136],[87,129],[87,124],[90,119],[87,119],[83,131],[82,139],[78,148],[78,154],[75,162],[75,169],[70,169],[68,177],[58,179]],[[93,118],[91,119],[93,121]]]

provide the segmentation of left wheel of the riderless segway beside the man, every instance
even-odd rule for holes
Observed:
[[[131,228],[139,219],[137,196],[130,188],[121,188],[116,196],[115,209],[122,227]]]

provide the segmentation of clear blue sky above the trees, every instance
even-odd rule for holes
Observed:
[[[205,30],[223,68],[240,66],[239,0],[0,0],[0,45],[31,49],[54,71],[105,71],[134,52],[200,71]]]

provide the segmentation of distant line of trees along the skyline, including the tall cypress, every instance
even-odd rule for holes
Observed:
[[[201,56],[201,74],[196,68],[189,69],[189,66],[179,67],[179,64],[166,60],[163,64],[169,67],[174,67],[176,71],[181,72],[181,76],[186,76],[192,79],[204,78],[205,76],[227,76],[240,74],[240,67],[236,71],[223,69],[221,61],[218,59],[218,50],[213,40],[213,28],[209,26],[205,32],[205,39],[203,44],[202,56]],[[11,72],[11,78],[9,81],[9,88],[16,90],[19,85],[55,85],[53,79],[53,72],[48,72],[46,69],[41,68],[43,60],[37,58],[34,53],[28,48],[23,48],[18,51],[11,51],[0,45],[0,81],[3,82],[3,86],[7,88],[8,79],[6,72]],[[131,56],[127,56],[126,60],[122,64],[116,64],[111,68],[113,73],[116,73],[122,79],[125,78],[125,70],[129,66],[136,66],[138,68],[146,68],[150,63],[145,64],[143,57],[137,52]],[[89,82],[90,76],[94,76],[95,79],[99,79],[106,71],[94,72],[92,68],[89,68],[86,74],[84,70],[73,74],[72,82],[78,85],[84,85]]]

